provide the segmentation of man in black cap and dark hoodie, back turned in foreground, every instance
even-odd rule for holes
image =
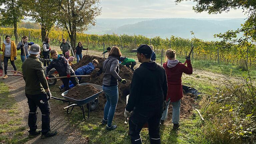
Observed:
[[[148,122],[150,143],[160,144],[160,119],[168,90],[165,69],[150,60],[152,50],[149,45],[142,44],[132,51],[137,52],[142,64],[133,72],[130,96],[124,112],[127,118],[133,111],[129,119],[131,143],[142,143],[140,131]]]

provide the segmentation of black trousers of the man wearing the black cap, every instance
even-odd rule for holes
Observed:
[[[160,144],[160,119],[162,113],[149,112],[148,114],[142,114],[140,112],[133,111],[133,114],[129,119],[129,132],[132,144],[142,144],[140,137],[140,131],[144,124],[148,122],[148,132],[150,138],[150,144]]]

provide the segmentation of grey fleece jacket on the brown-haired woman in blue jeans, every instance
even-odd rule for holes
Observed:
[[[118,85],[118,81],[121,81],[121,77],[118,75],[119,73],[119,60],[117,57],[109,56],[103,62],[103,85],[106,86],[114,86]]]

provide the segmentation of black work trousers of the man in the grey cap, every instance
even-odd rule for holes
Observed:
[[[42,134],[46,134],[50,131],[50,105],[48,102],[47,94],[42,93],[38,95],[26,94],[28,98],[29,114],[28,114],[28,126],[29,133],[33,133],[37,129],[37,107],[42,113]]]

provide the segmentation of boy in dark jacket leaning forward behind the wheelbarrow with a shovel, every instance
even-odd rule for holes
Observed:
[[[50,54],[52,56],[51,63],[47,66],[45,71],[45,77],[48,80],[49,72],[52,68],[55,68],[57,72],[59,73],[59,76],[67,76],[67,78],[62,78],[62,82],[65,87],[65,91],[69,90],[69,79],[72,81],[72,83],[76,86],[78,85],[78,80],[76,77],[70,77],[75,75],[74,70],[71,68],[71,66],[68,63],[68,60],[64,58],[63,56],[58,55],[58,52],[56,50],[51,50]]]

